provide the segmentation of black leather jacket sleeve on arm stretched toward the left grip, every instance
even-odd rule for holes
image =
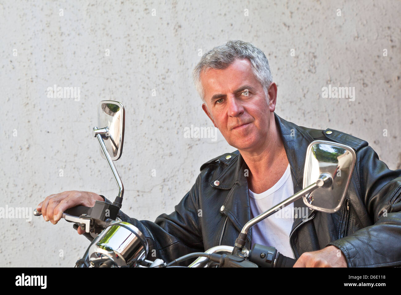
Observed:
[[[204,252],[200,220],[198,217],[200,175],[192,189],[186,193],[171,214],[161,214],[155,222],[131,218],[119,210],[118,217],[136,226],[146,237],[149,253],[146,259],[172,260],[191,252]],[[111,203],[105,198],[105,201]],[[193,260],[193,259],[192,259]],[[188,265],[187,260],[178,265]]]

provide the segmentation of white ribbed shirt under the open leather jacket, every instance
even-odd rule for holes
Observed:
[[[288,164],[284,175],[267,191],[253,193],[249,189],[252,218],[269,210],[293,194],[294,185],[292,183],[290,164]],[[284,256],[293,258],[290,247],[290,232],[294,222],[293,208],[294,205],[290,204],[253,226],[252,244],[257,243],[275,247]]]

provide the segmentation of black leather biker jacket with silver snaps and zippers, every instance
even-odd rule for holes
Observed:
[[[291,166],[294,192],[302,189],[306,149],[313,140],[339,142],[356,152],[340,210],[333,214],[306,210],[306,218],[295,219],[289,236],[294,257],[334,245],[344,253],[348,267],[401,265],[401,170],[388,169],[365,140],[332,129],[300,127],[276,114],[275,120]],[[155,222],[138,221],[121,211],[119,217],[146,236],[149,260],[170,262],[219,244],[233,246],[251,219],[244,169],[247,165],[238,150],[223,154],[201,166],[196,183],[171,214],[162,214]],[[294,207],[306,206],[300,199]],[[251,238],[252,230],[245,244],[248,249]]]

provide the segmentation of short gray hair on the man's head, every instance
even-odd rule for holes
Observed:
[[[265,54],[251,43],[241,40],[229,40],[224,45],[217,46],[205,53],[193,70],[195,87],[203,102],[205,102],[205,93],[201,83],[202,71],[205,73],[210,68],[225,69],[236,59],[249,59],[253,74],[262,84],[266,100],[267,102],[269,101],[267,89],[271,82],[273,82],[273,77],[271,76],[269,61],[267,61]]]

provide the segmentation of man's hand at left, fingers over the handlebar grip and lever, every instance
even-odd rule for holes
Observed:
[[[50,220],[51,223],[57,224],[65,210],[78,205],[93,207],[97,200],[103,201],[103,198],[90,191],[64,191],[47,196],[44,201],[39,203],[36,210],[42,212],[45,221]],[[84,233],[81,228],[78,228],[77,231],[79,234]]]

